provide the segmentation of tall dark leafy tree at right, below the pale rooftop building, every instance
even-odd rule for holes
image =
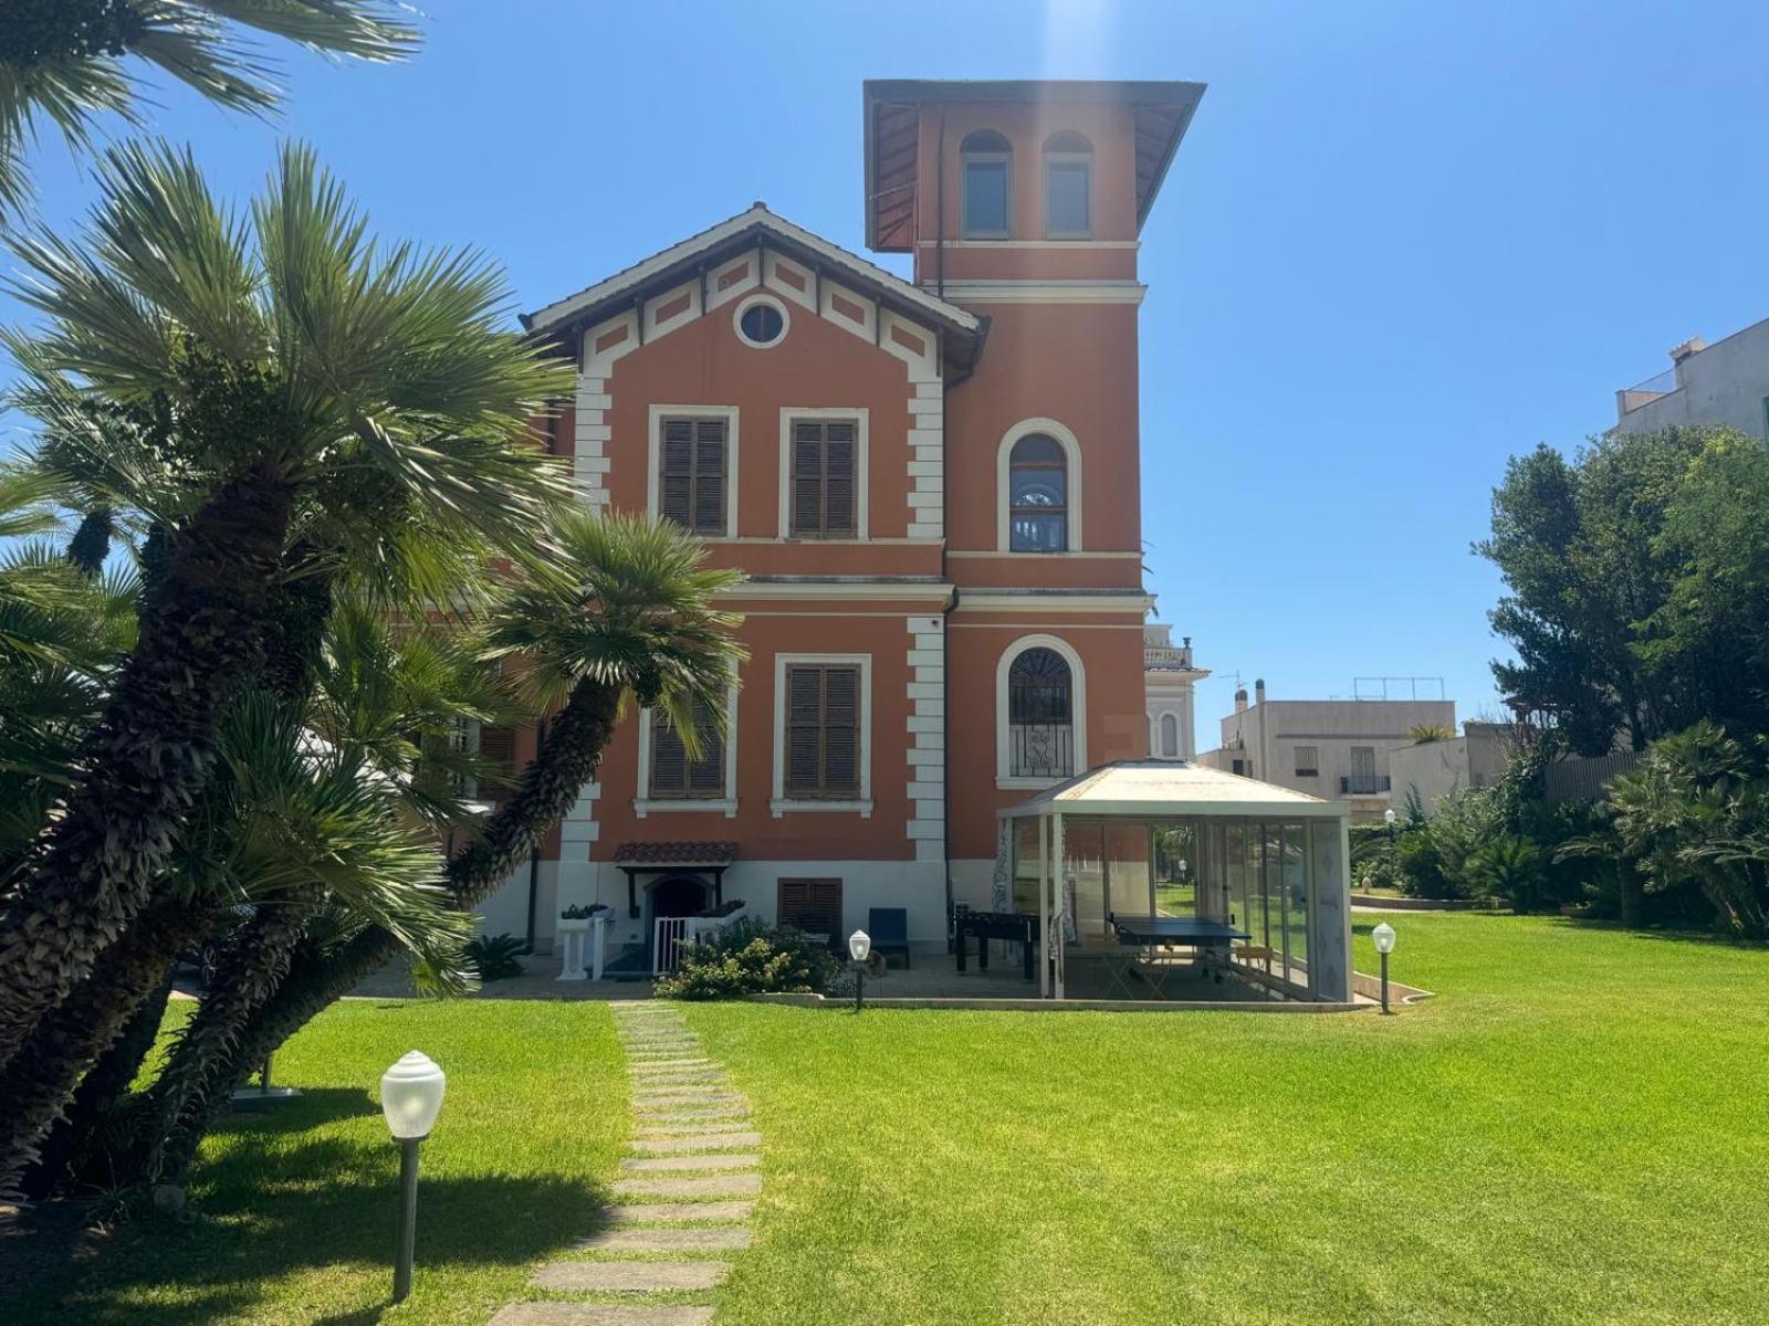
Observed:
[[[1504,575],[1491,622],[1516,651],[1493,674],[1574,753],[1643,750],[1700,718],[1760,730],[1762,686],[1739,674],[1769,649],[1760,541],[1728,552],[1716,532],[1769,522],[1762,458],[1739,433],[1672,428],[1507,465],[1475,545]]]

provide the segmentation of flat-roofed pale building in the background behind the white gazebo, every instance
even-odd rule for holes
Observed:
[[[1454,700],[1268,700],[1254,682],[1254,702],[1235,691],[1235,713],[1222,720],[1222,744],[1199,755],[1228,773],[1260,778],[1297,792],[1352,803],[1353,819],[1376,819],[1394,794],[1389,753],[1413,741],[1421,725],[1454,730]]]

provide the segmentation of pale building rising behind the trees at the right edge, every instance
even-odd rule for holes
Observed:
[[[1769,442],[1769,318],[1723,341],[1695,336],[1658,377],[1615,392],[1617,433],[1727,424]]]

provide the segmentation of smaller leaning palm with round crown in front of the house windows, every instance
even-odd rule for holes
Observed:
[[[628,700],[658,705],[692,753],[697,704],[722,723],[745,656],[731,636],[739,619],[716,606],[741,576],[704,568],[702,546],[676,525],[571,509],[557,516],[550,543],[552,559],[531,562],[502,603],[486,658],[520,659],[532,700],[554,718],[508,799],[448,863],[448,889],[462,911],[478,907],[564,819],[596,776]],[[379,928],[333,948],[306,941],[239,1033],[226,1071],[211,1075],[207,1096],[186,1107],[163,1177],[189,1163],[234,1086],[394,956],[398,944]]]

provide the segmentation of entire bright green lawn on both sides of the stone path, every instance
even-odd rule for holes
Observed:
[[[1440,994],[1392,1018],[690,1008],[768,1137],[720,1326],[1769,1321],[1769,951],[1392,921]],[[412,1047],[449,1101],[382,1312],[366,1087]],[[338,1008],[278,1059],[310,1098],[216,1139],[200,1215],[0,1319],[479,1326],[594,1225],[617,1054],[596,1004]]]

